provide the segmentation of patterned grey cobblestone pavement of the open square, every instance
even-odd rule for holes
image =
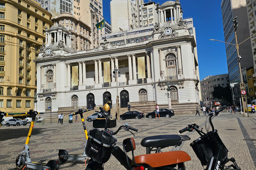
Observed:
[[[180,129],[188,124],[196,123],[204,128],[206,116],[195,115],[175,115],[171,118],[161,117],[160,119],[142,118],[141,120],[117,121],[117,130],[119,125],[128,123],[130,126],[139,129],[135,132],[135,142],[137,149],[135,155],[146,153],[146,149],[140,145],[142,138],[150,135],[159,134],[177,134]],[[220,138],[229,150],[229,157],[234,157],[241,169],[256,169],[256,114],[250,114],[250,117],[244,117],[241,114],[230,114],[222,112],[220,116],[213,119],[215,129],[218,130]],[[85,123],[87,130],[92,129],[92,123]],[[25,145],[29,126],[1,126],[0,129],[0,169],[16,169],[15,158]],[[205,128],[204,128],[205,130]],[[185,133],[186,134],[186,133]],[[196,157],[193,149],[189,146],[190,142],[197,139],[199,135],[196,132],[189,132],[190,141],[183,142],[179,150],[186,151],[191,161],[186,162],[187,169],[203,169],[201,163]],[[127,137],[133,137],[129,132],[119,132],[115,135],[117,145],[122,148],[122,141]],[[83,154],[85,147],[85,134],[81,120],[79,123],[63,124],[46,123],[45,125],[35,124],[29,143],[31,160],[35,162],[42,161],[47,163],[51,159],[58,159],[58,150],[66,149],[69,154]],[[177,148],[167,148],[173,150]],[[60,162],[60,169],[85,169],[84,161]],[[105,164],[105,169],[124,169],[124,167],[111,156]]]

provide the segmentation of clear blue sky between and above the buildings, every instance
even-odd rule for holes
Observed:
[[[110,23],[110,0],[102,1],[103,17]],[[147,3],[148,0],[145,0],[145,2]],[[155,0],[154,2],[163,4],[166,1]],[[207,77],[207,75],[228,73],[225,43],[209,40],[224,41],[221,0],[180,0],[180,3],[183,18],[191,17],[194,21],[200,80]]]

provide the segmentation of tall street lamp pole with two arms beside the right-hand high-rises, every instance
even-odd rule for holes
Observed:
[[[238,67],[239,67],[239,73],[240,73],[240,87],[244,87],[244,83],[243,83],[243,78],[242,78],[242,71],[241,71],[241,64],[240,64],[240,60],[242,59],[242,57],[239,55],[239,45],[241,45],[242,43],[244,43],[244,41],[250,39],[251,37],[255,36],[256,33],[254,33],[251,37],[245,39],[244,41],[242,41],[242,43],[237,43],[237,35],[236,35],[236,30],[237,30],[237,27],[238,27],[238,22],[237,22],[237,16],[233,19],[233,25],[234,25],[234,30],[235,30],[235,38],[236,38],[236,44],[231,44],[231,43],[227,43],[225,41],[220,41],[220,40],[216,40],[216,39],[210,39],[211,41],[220,41],[221,43],[225,43],[225,44],[230,44],[230,45],[233,45],[236,47],[236,51],[237,51],[237,56],[238,56]],[[242,89],[241,89],[242,90]],[[243,95],[242,95],[242,92],[241,92],[241,98],[243,99]],[[245,95],[245,105],[247,107],[247,98],[246,98],[246,95]],[[244,111],[244,117],[246,116],[245,115],[245,110],[244,110],[244,101],[243,101],[243,111]],[[247,113],[248,117],[249,117],[249,114]]]

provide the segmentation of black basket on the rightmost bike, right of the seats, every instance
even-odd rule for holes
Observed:
[[[221,162],[224,162],[228,156],[228,149],[221,141],[217,130],[202,135],[190,143],[190,146],[193,148],[202,165],[207,165],[213,156],[218,156]]]

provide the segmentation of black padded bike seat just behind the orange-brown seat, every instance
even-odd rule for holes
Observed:
[[[181,137],[179,135],[156,135],[152,137],[143,138],[140,142],[142,147],[169,147],[175,146],[179,143]]]

